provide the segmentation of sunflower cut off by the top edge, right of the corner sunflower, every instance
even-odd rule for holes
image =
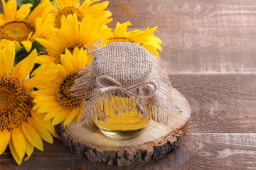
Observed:
[[[112,13],[110,11],[104,11],[107,8],[109,2],[104,1],[102,3],[95,2],[100,0],[87,0],[82,1],[80,4],[80,0],[55,0],[55,5],[57,8],[53,8],[53,13],[50,13],[52,18],[52,23],[55,28],[60,28],[62,26],[61,18],[62,16],[68,16],[68,14],[76,13],[78,16],[78,21],[82,21],[82,18],[85,15],[101,17],[104,20],[104,24],[110,23],[112,18]]]

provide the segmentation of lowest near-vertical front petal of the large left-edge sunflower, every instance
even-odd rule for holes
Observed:
[[[14,128],[11,135],[11,140],[14,143],[14,148],[18,154],[18,157],[22,159],[26,151],[26,142],[23,137],[23,133],[19,128]]]

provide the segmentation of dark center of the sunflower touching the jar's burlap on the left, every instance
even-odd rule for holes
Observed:
[[[72,96],[70,92],[70,87],[73,86],[75,77],[78,76],[78,72],[74,72],[68,74],[63,81],[61,81],[60,86],[57,91],[57,98],[58,101],[65,107],[65,108],[77,108],[82,103],[82,98],[75,98]]]

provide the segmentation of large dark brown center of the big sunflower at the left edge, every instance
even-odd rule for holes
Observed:
[[[0,131],[18,128],[27,120],[33,98],[18,79],[0,77]]]

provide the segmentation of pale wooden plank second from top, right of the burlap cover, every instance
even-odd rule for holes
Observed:
[[[256,72],[256,27],[159,28],[167,72]]]

